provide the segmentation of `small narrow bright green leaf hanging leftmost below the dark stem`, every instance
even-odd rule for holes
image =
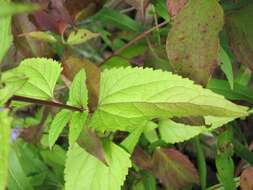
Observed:
[[[62,130],[67,125],[69,120],[71,119],[71,111],[69,110],[61,110],[59,113],[56,114],[54,120],[49,129],[49,146],[52,148],[58,137],[60,136]]]

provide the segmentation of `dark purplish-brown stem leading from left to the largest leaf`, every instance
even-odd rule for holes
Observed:
[[[28,98],[28,97],[24,97],[24,96],[12,96],[10,101],[27,102],[27,103],[33,103],[33,104],[38,104],[38,105],[43,105],[43,106],[58,107],[58,108],[68,109],[71,111],[79,111],[79,112],[84,111],[82,108],[79,108],[76,106],[71,106],[71,105],[48,101],[48,100]]]

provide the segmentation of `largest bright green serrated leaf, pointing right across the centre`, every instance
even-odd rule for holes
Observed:
[[[102,73],[99,106],[90,126],[133,130],[143,120],[186,116],[246,116],[247,108],[170,72],[116,68]]]

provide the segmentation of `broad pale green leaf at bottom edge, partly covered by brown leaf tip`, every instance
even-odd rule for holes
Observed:
[[[119,190],[131,167],[130,155],[109,142],[105,158],[108,166],[75,144],[67,153],[65,189]]]

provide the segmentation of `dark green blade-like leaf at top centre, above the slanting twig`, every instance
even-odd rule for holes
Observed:
[[[135,20],[109,8],[103,8],[94,19],[103,22],[103,24],[115,26],[122,30],[132,32],[141,32],[143,30],[143,27]]]

